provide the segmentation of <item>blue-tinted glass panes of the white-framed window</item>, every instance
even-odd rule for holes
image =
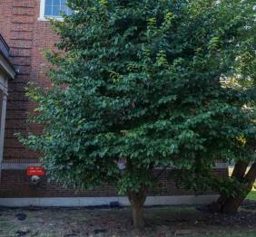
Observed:
[[[72,11],[65,5],[67,0],[45,0],[44,16],[61,16],[61,12],[72,14]]]

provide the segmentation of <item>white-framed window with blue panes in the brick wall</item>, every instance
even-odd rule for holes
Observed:
[[[72,14],[72,10],[66,6],[67,0],[41,0],[40,19],[45,18],[62,18],[61,12],[64,14]]]

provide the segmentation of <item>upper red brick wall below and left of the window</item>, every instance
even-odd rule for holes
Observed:
[[[57,40],[49,23],[38,21],[40,0],[1,0],[0,33],[11,48],[10,60],[20,72],[15,81],[10,81],[5,127],[4,158],[8,162],[29,162],[37,154],[25,149],[14,134],[26,134],[30,129],[40,130],[37,125],[26,123],[27,112],[33,104],[25,98],[25,86],[34,81],[40,86],[49,86],[44,73],[47,65],[43,52],[53,48]]]

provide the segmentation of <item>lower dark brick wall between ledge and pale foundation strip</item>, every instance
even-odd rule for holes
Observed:
[[[216,169],[213,171],[220,176],[227,175],[227,169]],[[168,173],[170,175],[170,173]],[[62,185],[47,183],[46,177],[38,185],[30,183],[25,175],[25,170],[3,170],[0,182],[0,197],[73,197],[73,196],[115,196],[116,189],[112,185],[103,185],[94,190],[74,192],[73,189],[65,189]],[[159,185],[149,192],[149,195],[187,195],[194,194],[184,188],[177,188],[172,181],[168,181],[167,173],[162,174]],[[204,194],[216,194],[208,191]]]

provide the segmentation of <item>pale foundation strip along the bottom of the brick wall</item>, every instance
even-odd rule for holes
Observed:
[[[218,194],[148,196],[144,205],[210,204],[218,197]],[[118,202],[121,206],[130,205],[124,196],[0,198],[0,206],[100,206],[111,202]]]

